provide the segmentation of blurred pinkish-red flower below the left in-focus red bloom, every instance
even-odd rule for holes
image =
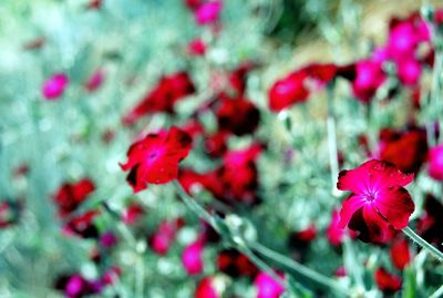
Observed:
[[[161,223],[157,230],[150,237],[151,248],[158,255],[166,255],[183,225],[182,218]]]

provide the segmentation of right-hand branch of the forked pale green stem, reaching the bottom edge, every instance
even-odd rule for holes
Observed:
[[[303,276],[312,281],[315,281],[318,285],[323,286],[324,288],[329,288],[333,291],[336,291],[337,294],[340,294],[340,296],[347,296],[348,292],[346,291],[346,289],[343,289],[336,280],[326,277],[312,269],[310,269],[309,267],[306,267],[297,261],[295,261],[291,258],[288,258],[284,255],[280,255],[276,251],[274,251],[272,249],[262,246],[261,244],[255,243],[253,246],[253,249],[258,251],[259,254],[268,257],[269,259],[272,259],[288,268],[290,268],[292,271],[297,273],[300,276]]]

